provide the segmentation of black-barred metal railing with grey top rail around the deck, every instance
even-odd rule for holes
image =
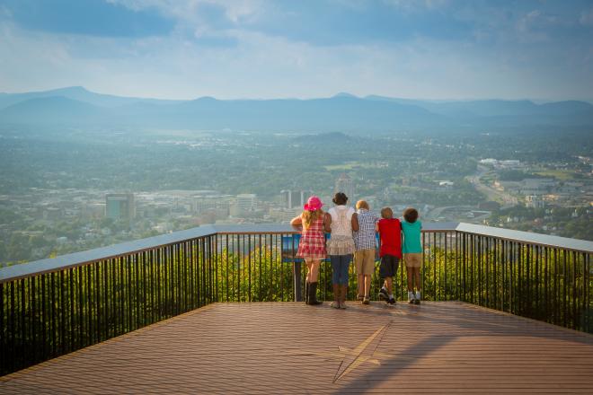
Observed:
[[[298,300],[305,270],[292,258],[294,234],[286,225],[208,225],[2,268],[0,374],[208,303]],[[593,242],[471,224],[424,224],[422,241],[424,299],[593,332]],[[379,283],[373,276],[373,289]],[[350,265],[350,298],[355,285]],[[329,262],[319,293],[332,299]]]

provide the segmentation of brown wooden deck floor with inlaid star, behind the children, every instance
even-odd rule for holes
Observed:
[[[0,393],[593,392],[593,337],[466,303],[215,303]]]

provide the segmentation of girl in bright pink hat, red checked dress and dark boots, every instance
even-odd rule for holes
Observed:
[[[303,213],[293,218],[290,224],[294,227],[303,226],[301,241],[298,243],[297,257],[305,259],[307,268],[305,282],[305,303],[322,304],[317,300],[317,278],[322,259],[325,259],[325,234],[329,226],[327,215],[322,210],[320,198],[312,196],[303,207]],[[327,225],[326,225],[327,224]]]

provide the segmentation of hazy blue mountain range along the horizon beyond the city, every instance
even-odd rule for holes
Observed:
[[[0,93],[0,124],[187,127],[261,131],[401,131],[593,127],[586,101],[421,101],[339,93],[322,99],[166,101],[68,87]]]

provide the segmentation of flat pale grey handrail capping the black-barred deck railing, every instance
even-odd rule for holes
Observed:
[[[593,252],[593,241],[570,239],[566,237],[550,236],[540,233],[520,232],[492,226],[482,226],[465,223],[427,223],[422,224],[422,231],[426,233],[460,232],[491,236],[506,241],[518,241],[527,244],[553,247],[563,250]],[[127,241],[93,250],[74,252],[56,258],[40,259],[29,263],[0,268],[0,284],[18,280],[33,275],[55,272],[67,268],[75,268],[97,262],[99,260],[114,259],[122,255],[134,254],[152,250],[182,241],[190,241],[199,237],[214,234],[294,234],[297,233],[288,224],[237,224],[217,225],[208,224],[184,231],[161,234],[158,236]]]

